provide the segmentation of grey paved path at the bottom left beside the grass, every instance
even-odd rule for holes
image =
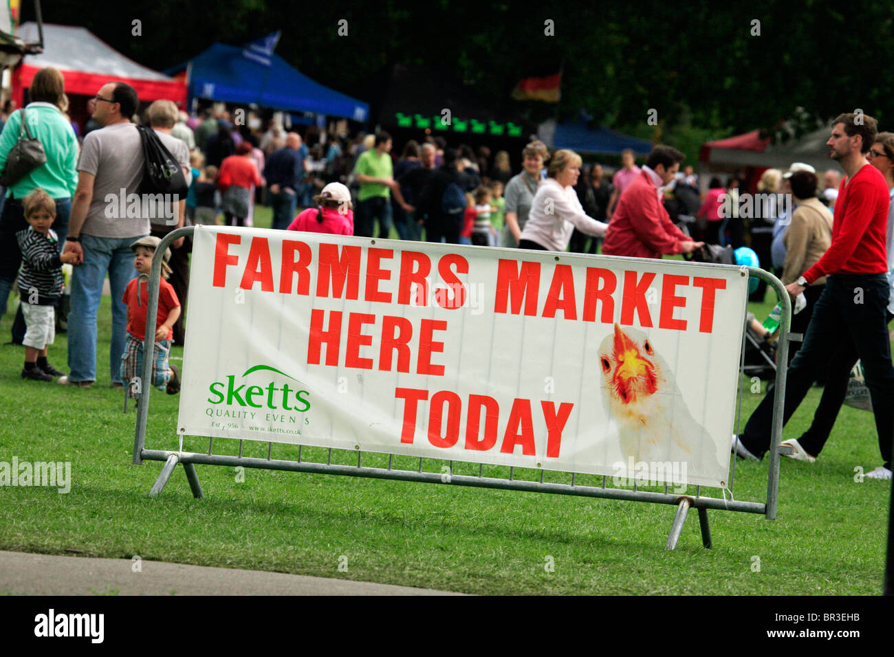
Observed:
[[[410,586],[164,561],[0,552],[0,594],[29,595],[456,595]]]

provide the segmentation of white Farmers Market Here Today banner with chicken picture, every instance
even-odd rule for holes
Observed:
[[[747,273],[197,226],[181,434],[725,486]]]

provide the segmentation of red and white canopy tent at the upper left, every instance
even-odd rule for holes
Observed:
[[[106,82],[127,82],[137,90],[139,100],[159,98],[186,103],[186,84],[164,73],[133,62],[112,46],[94,36],[89,29],[67,25],[44,24],[44,52],[25,55],[13,70],[13,100],[21,106],[24,90],[30,87],[34,74],[45,66],[53,66],[65,78],[65,93],[94,96]],[[37,23],[26,22],[16,30],[26,41],[36,40]]]

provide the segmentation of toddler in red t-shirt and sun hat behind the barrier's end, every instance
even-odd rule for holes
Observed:
[[[133,249],[133,267],[140,274],[149,274],[152,271],[152,257],[155,255],[159,240],[157,237],[144,237],[131,244]],[[177,299],[171,283],[165,281],[171,275],[171,268],[167,265],[171,257],[169,251],[164,251],[162,261],[163,278],[159,281],[158,315],[156,316],[156,330],[150,333],[151,340],[155,342],[155,358],[152,362],[152,385],[158,390],[166,390],[168,394],[180,392],[180,373],[177,368],[168,365],[168,354],[171,353],[171,341],[173,340],[173,324],[180,317],[180,299]],[[139,282],[139,303],[137,301],[137,287]],[[127,304],[127,344],[121,362],[121,377],[127,385],[127,395],[136,396],[131,388],[131,381],[135,376],[142,375],[143,337],[146,333],[146,309],[149,303],[148,282],[139,276],[127,284],[122,301]]]

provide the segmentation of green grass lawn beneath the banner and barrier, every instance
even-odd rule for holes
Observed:
[[[206,499],[192,498],[178,467],[161,497],[150,500],[161,464],[131,465],[135,414],[122,413],[123,393],[110,388],[108,301],[100,310],[92,389],[23,381],[21,347],[0,347],[0,461],[72,463],[71,493],[0,488],[0,549],[139,555],[477,594],[881,592],[890,482],[854,481],[856,466],[868,472],[881,460],[873,417],[847,407],[816,464],[783,459],[778,519],[709,511],[712,550],[702,547],[695,512],[677,551],[664,552],[670,506],[450,485],[252,469],[239,482],[232,468],[198,466]],[[0,341],[8,341],[11,322],[9,314],[0,322]],[[63,335],[50,360],[65,369],[65,357]],[[819,393],[809,393],[787,436],[805,429]],[[746,386],[743,418],[760,398]],[[148,448],[176,449],[179,398],[153,392],[151,400]],[[207,439],[187,439],[184,449],[207,451]],[[238,449],[238,442],[215,441],[215,453]],[[243,454],[266,457],[266,450],[266,443],[246,441]],[[323,450],[303,454],[325,462]],[[297,448],[274,445],[273,458],[296,459]],[[337,452],[333,460],[356,464],[356,455]],[[364,465],[386,462],[364,457]],[[395,467],[416,465],[395,459]],[[433,460],[426,469],[439,471],[440,464]],[[508,468],[488,469],[508,476]],[[477,474],[477,467],[457,472]],[[766,473],[766,462],[739,462],[736,498],[763,501]],[[552,572],[544,569],[549,557]]]

